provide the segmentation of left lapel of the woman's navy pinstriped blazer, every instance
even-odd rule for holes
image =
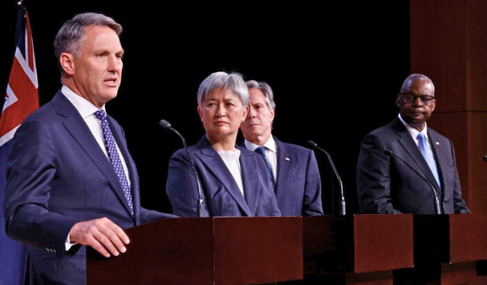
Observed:
[[[239,204],[240,208],[248,215],[252,216],[253,212],[250,211],[244,196],[242,196],[237,182],[233,179],[232,173],[228,170],[227,165],[223,162],[220,155],[216,153],[216,150],[209,144],[207,138],[204,136],[200,142],[198,142],[198,147],[200,152],[195,152],[195,155],[200,158],[202,163],[204,163],[207,168],[215,175],[215,177],[225,186],[230,196]],[[241,167],[246,167],[249,163],[244,163]],[[242,169],[244,172],[244,169]],[[244,179],[244,174],[242,173],[242,179]],[[250,179],[250,177],[249,177]],[[245,181],[244,181],[245,183]],[[246,185],[244,184],[244,189]],[[244,190],[245,191],[245,190]],[[245,193],[245,192],[244,192]]]

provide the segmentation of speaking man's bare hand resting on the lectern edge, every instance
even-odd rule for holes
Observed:
[[[129,237],[125,232],[108,218],[77,222],[70,230],[70,242],[90,245],[104,257],[111,254],[118,256],[126,252],[125,245],[129,244]]]

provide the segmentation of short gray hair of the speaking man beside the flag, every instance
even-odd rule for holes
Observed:
[[[59,29],[54,38],[54,54],[59,59],[63,52],[72,54],[79,58],[81,50],[81,38],[87,26],[107,26],[117,35],[122,33],[122,26],[115,22],[111,17],[99,13],[83,13],[67,20]],[[63,69],[61,68],[61,72]]]

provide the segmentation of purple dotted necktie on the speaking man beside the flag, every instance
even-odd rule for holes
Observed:
[[[106,113],[103,110],[98,110],[95,112],[95,116],[102,123],[103,130],[103,141],[105,144],[106,153],[109,155],[111,165],[113,170],[118,176],[118,181],[123,188],[123,194],[129,202],[130,212],[134,215],[134,204],[132,203],[132,194],[130,192],[130,186],[127,182],[127,177],[125,176],[125,170],[123,169],[122,161],[120,161],[120,156],[118,156],[117,147],[115,147],[115,139],[111,133],[109,122],[106,120]]]

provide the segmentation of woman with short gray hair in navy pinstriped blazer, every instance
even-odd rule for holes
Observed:
[[[189,156],[179,149],[169,162],[166,192],[176,215],[280,215],[264,159],[235,142],[248,113],[248,90],[240,74],[215,72],[198,88],[198,113],[205,128],[189,147],[201,181],[201,193]]]

